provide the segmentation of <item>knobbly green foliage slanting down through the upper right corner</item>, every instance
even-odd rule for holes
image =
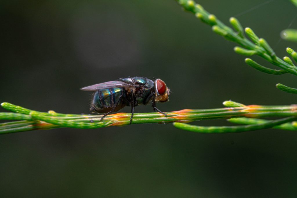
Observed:
[[[291,1],[296,5],[296,0],[291,0]],[[272,74],[272,75],[282,75],[285,73],[297,75],[297,66],[293,63],[293,61],[289,57],[285,56],[283,60],[279,58],[275,54],[274,50],[270,47],[268,42],[266,42],[265,39],[259,38],[251,28],[245,28],[243,30],[241,24],[236,18],[234,17],[230,18],[230,24],[233,26],[235,30],[234,31],[233,29],[231,29],[230,27],[222,23],[220,20],[218,20],[213,14],[210,14],[209,12],[207,12],[200,4],[196,4],[195,1],[177,0],[177,2],[181,4],[185,10],[195,14],[195,16],[199,18],[203,23],[206,23],[212,26],[212,30],[215,33],[219,34],[220,36],[224,37],[229,41],[232,41],[237,43],[238,45],[241,45],[241,47],[234,48],[234,51],[236,53],[241,54],[243,56],[253,56],[253,55],[260,56],[266,61],[270,62],[271,64],[278,66],[280,70],[270,69],[268,67],[265,67],[256,63],[250,58],[247,58],[245,59],[245,62],[249,66],[261,72]],[[290,30],[290,31],[286,31],[286,33],[288,33],[287,38],[288,39],[290,38],[290,40],[297,38],[296,31]],[[250,40],[247,39],[245,35],[247,35],[247,37]],[[292,58],[295,61],[297,61],[297,53],[294,50],[287,48],[287,52],[290,54],[290,56],[292,56]],[[279,88],[282,91],[285,91],[279,86],[277,86],[277,88]],[[295,92],[293,91],[287,91],[287,92],[295,94]]]

